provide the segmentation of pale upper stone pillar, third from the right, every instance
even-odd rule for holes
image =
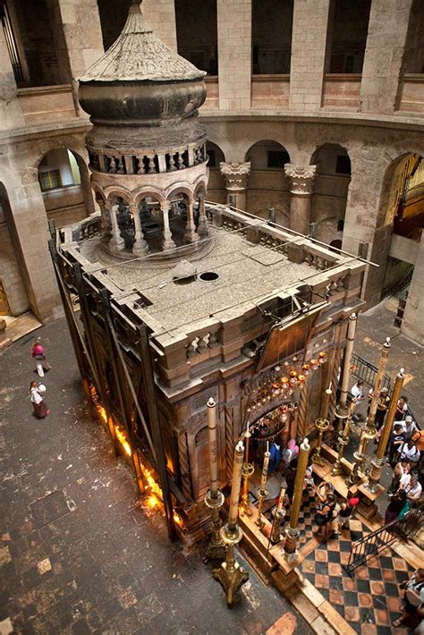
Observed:
[[[251,0],[216,0],[220,110],[250,110]]]

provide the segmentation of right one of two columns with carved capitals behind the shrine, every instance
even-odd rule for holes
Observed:
[[[310,205],[317,165],[286,163],[284,173],[290,179],[290,229],[310,233]]]

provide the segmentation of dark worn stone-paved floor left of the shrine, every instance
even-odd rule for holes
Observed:
[[[53,369],[47,419],[34,419],[33,334],[0,357],[0,632],[265,633],[310,628],[250,571],[225,597],[199,550],[170,544],[160,517],[134,505],[129,470],[90,422],[64,320],[40,328]],[[283,632],[283,631],[281,631]]]

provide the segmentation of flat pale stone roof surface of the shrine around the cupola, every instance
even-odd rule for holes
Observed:
[[[266,223],[264,223],[266,224]],[[208,246],[183,258],[197,267],[197,278],[189,284],[173,282],[179,260],[118,260],[101,248],[100,241],[81,242],[81,254],[107,269],[107,277],[120,289],[140,292],[151,302],[144,310],[165,330],[208,318],[233,305],[270,297],[317,275],[306,263],[291,262],[282,253],[247,241],[241,233],[209,226]],[[199,275],[215,272],[214,281]]]

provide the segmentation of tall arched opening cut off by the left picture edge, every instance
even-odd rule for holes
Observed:
[[[0,315],[19,316],[30,309],[19,244],[9,197],[0,183]]]

